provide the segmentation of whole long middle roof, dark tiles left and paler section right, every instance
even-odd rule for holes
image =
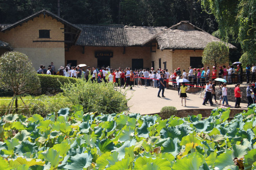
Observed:
[[[141,46],[148,37],[160,33],[167,27],[130,27],[123,25],[83,25],[76,42],[79,46],[128,47]]]

